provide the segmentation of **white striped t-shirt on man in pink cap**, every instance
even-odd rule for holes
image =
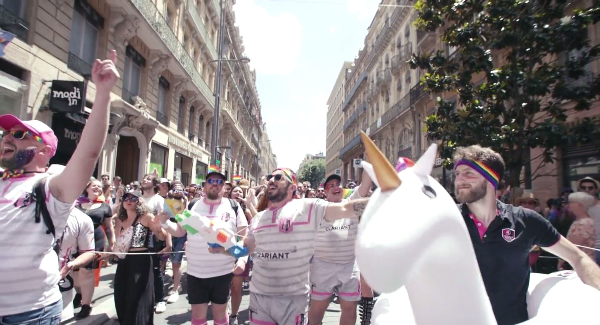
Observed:
[[[54,237],[35,223],[35,182],[47,174],[0,180],[0,315],[20,314],[61,300]],[[61,236],[73,202],[56,199],[46,180],[46,206]]]

